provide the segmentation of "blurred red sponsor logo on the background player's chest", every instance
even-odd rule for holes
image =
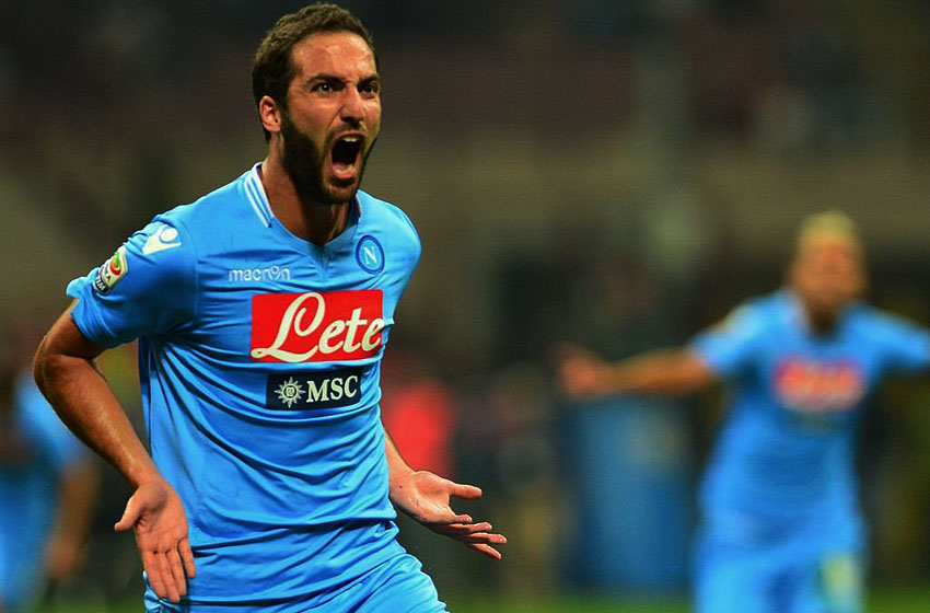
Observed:
[[[852,361],[819,361],[788,357],[775,370],[779,400],[804,414],[838,413],[853,408],[865,394],[865,377]]]

